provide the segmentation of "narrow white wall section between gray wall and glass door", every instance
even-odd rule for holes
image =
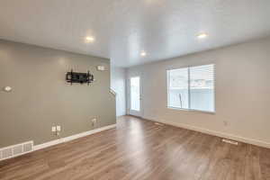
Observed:
[[[116,116],[126,114],[126,71],[125,68],[111,67],[111,88],[116,92]]]

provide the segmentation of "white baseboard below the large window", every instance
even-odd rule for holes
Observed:
[[[268,143],[266,141],[262,141],[262,140],[247,139],[247,138],[239,137],[239,136],[236,136],[236,135],[233,135],[233,134],[228,134],[228,133],[219,132],[219,131],[215,131],[215,130],[202,129],[202,128],[199,128],[199,127],[195,127],[195,126],[191,126],[191,125],[187,125],[187,124],[183,124],[183,123],[178,123],[178,122],[173,122],[173,121],[159,121],[159,120],[153,120],[153,119],[148,119],[148,118],[144,118],[144,119],[148,120],[148,121],[157,121],[157,122],[168,124],[168,125],[171,125],[171,126],[184,128],[184,129],[187,129],[187,130],[195,130],[195,131],[199,131],[199,132],[202,132],[202,133],[205,133],[205,134],[218,136],[220,138],[233,139],[233,140],[237,140],[239,142],[244,142],[244,143],[247,143],[247,144],[256,145],[256,146],[263,147],[263,148],[270,148],[270,143]]]

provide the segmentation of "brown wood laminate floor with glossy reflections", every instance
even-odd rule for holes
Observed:
[[[123,116],[117,129],[0,162],[0,179],[270,180],[270,149]]]

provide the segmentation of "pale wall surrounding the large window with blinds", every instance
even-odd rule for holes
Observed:
[[[166,69],[211,63],[216,113],[166,108]],[[142,77],[144,118],[270,148],[270,38],[130,67],[134,75]]]

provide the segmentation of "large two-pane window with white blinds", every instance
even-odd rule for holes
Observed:
[[[167,70],[167,106],[215,112],[214,65]]]

